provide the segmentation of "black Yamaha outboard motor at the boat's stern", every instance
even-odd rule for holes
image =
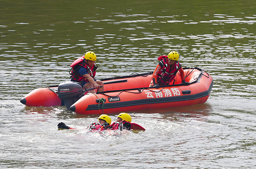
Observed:
[[[84,95],[78,82],[63,82],[58,87],[58,97],[64,101],[67,109]]]

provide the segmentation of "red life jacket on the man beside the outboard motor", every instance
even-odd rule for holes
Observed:
[[[72,68],[70,69],[69,71],[69,74],[71,75],[71,79],[72,81],[76,81],[76,82],[89,82],[86,78],[84,78],[83,76],[80,75],[80,73],[78,73],[78,70],[81,68],[81,67],[84,67],[85,69],[87,69],[87,72],[88,74],[94,78],[95,75],[96,75],[96,69],[98,68],[98,66],[96,66],[96,64],[94,64],[92,67],[90,67],[89,65],[87,65],[85,63],[85,61],[81,61],[79,62],[78,64],[72,66]]]

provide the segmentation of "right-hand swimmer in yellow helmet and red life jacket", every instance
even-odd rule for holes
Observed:
[[[117,121],[110,125],[111,130],[130,130],[132,127],[132,117],[128,113],[120,113],[117,116]]]

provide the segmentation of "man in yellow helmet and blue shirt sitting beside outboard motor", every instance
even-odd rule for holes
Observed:
[[[82,87],[85,89],[95,87],[97,92],[104,91],[103,82],[95,79],[96,66],[95,61],[97,57],[94,52],[88,51],[81,58],[75,60],[70,67],[72,67],[69,71],[71,75],[71,81],[80,82]],[[100,87],[102,86],[102,87]],[[88,91],[89,93],[95,93],[94,90]]]

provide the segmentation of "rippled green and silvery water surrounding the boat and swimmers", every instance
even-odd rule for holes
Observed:
[[[255,168],[256,2],[0,1],[1,168]],[[180,53],[213,77],[205,104],[129,112],[141,133],[88,133],[96,116],[26,107],[97,55],[98,79],[153,71]],[[111,114],[112,121],[117,114]],[[74,131],[58,131],[65,122]]]

